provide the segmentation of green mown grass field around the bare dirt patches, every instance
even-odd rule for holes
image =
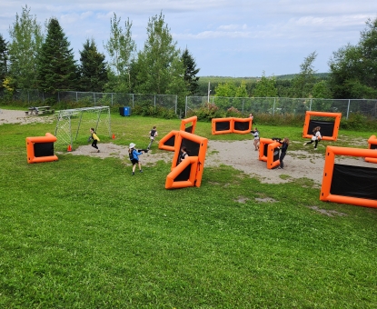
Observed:
[[[152,125],[161,137],[179,124],[112,115],[117,138],[101,143],[142,145]],[[210,128],[195,133],[250,139]],[[205,168],[200,188],[165,190],[163,161],[134,177],[115,158],[27,164],[25,137],[54,131],[0,125],[1,308],[377,308],[376,209],[322,203],[308,179],[261,184],[225,165]],[[372,134],[341,131],[338,145]]]

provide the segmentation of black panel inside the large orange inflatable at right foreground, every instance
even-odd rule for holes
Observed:
[[[333,164],[330,194],[377,201],[377,168]]]

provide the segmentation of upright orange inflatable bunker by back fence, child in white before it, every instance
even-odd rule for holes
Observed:
[[[320,121],[311,120],[311,116],[316,117],[330,117],[334,118],[334,121]],[[303,138],[312,138],[313,129],[316,126],[321,126],[322,140],[324,141],[336,141],[338,138],[339,126],[341,125],[342,113],[323,113],[307,111],[305,114],[305,122],[303,124]]]

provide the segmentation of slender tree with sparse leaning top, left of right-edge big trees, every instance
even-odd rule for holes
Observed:
[[[292,81],[292,96],[297,98],[312,97],[313,85],[317,79],[315,77],[316,71],[313,68],[313,62],[317,57],[314,51],[303,59],[303,64],[300,65],[301,71],[299,75],[293,77]]]

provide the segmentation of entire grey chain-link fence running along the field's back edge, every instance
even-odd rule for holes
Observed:
[[[0,92],[0,98],[4,96]],[[174,110],[177,115],[177,95],[139,95],[120,93],[93,93],[59,91],[48,95],[39,90],[17,90],[13,95],[15,101],[27,102],[28,105],[43,103],[54,97],[57,102],[77,102],[85,106],[161,106]],[[317,99],[317,98],[287,98],[287,97],[223,97],[223,96],[186,96],[184,116],[207,104],[216,105],[226,111],[233,107],[244,114],[263,113],[271,115],[303,115],[306,111],[342,113],[346,119],[352,113],[377,118],[377,100],[369,99]]]

